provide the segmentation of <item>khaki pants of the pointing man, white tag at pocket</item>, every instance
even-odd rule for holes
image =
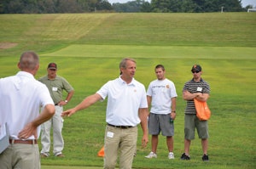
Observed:
[[[137,127],[127,129],[106,127],[104,144],[104,169],[114,169],[118,155],[119,168],[131,169],[137,148]]]

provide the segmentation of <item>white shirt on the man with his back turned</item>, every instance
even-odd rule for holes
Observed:
[[[19,139],[18,133],[38,117],[40,107],[54,104],[48,88],[25,71],[0,79],[0,100],[0,115],[4,119],[1,121],[7,122],[12,139]],[[34,139],[34,136],[28,139]]]

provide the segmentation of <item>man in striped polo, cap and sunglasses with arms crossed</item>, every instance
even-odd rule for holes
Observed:
[[[183,87],[183,99],[187,101],[184,116],[184,153],[181,160],[190,160],[189,146],[192,139],[195,139],[195,128],[201,138],[201,146],[203,151],[202,161],[209,161],[207,155],[208,147],[208,123],[200,121],[196,116],[194,99],[207,101],[210,97],[210,85],[201,78],[201,65],[192,66],[193,79],[186,82]]]

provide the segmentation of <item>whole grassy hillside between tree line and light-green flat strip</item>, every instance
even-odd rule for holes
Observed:
[[[256,47],[256,14],[1,14],[5,54],[70,44]]]

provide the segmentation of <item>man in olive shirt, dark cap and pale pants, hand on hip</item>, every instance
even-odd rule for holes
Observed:
[[[53,127],[53,154],[58,157],[64,157],[62,154],[64,140],[61,134],[63,127],[61,113],[63,111],[63,106],[72,98],[74,90],[65,78],[56,75],[57,65],[55,63],[49,63],[47,71],[48,75],[39,78],[38,81],[43,82],[48,87],[50,96],[55,103],[55,115],[42,125],[41,157],[49,156],[51,127]],[[63,90],[67,92],[66,99],[62,99]]]

